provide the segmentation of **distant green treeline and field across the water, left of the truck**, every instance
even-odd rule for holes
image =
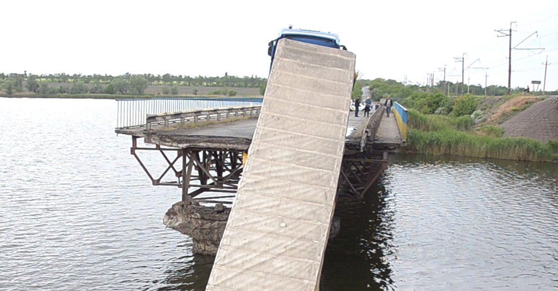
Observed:
[[[30,92],[39,95],[54,94],[123,94],[143,95],[149,85],[170,85],[163,88],[163,94],[178,94],[177,86],[204,86],[224,88],[264,88],[267,79],[258,76],[175,76],[171,74],[132,75],[68,75],[61,74],[4,74],[0,73],[0,90],[11,96],[13,93]],[[61,85],[60,83],[69,84]],[[193,90],[194,95],[198,90]],[[216,90],[215,95],[236,95],[234,90]],[[210,93],[210,94],[211,94]],[[213,95],[212,94],[212,95]]]

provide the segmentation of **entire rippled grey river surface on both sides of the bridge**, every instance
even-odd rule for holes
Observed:
[[[113,100],[0,98],[0,290],[203,290],[180,199],[114,134]],[[161,157],[142,157],[161,167]],[[397,155],[338,205],[321,290],[558,288],[558,166]]]

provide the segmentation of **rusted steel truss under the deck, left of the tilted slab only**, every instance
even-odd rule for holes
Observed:
[[[130,153],[136,158],[153,185],[175,186],[182,188],[182,200],[195,197],[205,191],[228,193],[211,197],[234,197],[242,173],[243,151],[215,148],[161,148],[138,147],[137,138],[132,137]],[[167,163],[160,176],[155,177],[137,155],[137,151],[157,151]],[[171,154],[171,152],[176,152]],[[172,157],[174,156],[174,157]],[[180,161],[180,162],[179,162]],[[163,181],[169,172],[173,180]]]

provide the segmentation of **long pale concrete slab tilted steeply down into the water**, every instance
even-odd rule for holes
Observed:
[[[207,290],[316,290],[355,55],[280,40]]]

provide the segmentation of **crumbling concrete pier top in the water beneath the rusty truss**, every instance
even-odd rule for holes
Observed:
[[[199,205],[196,200],[174,203],[163,217],[163,224],[181,234],[190,236],[198,255],[217,254],[229,218],[230,208],[218,203],[214,207]],[[340,219],[334,216],[331,221],[329,239],[333,239],[340,229]]]

